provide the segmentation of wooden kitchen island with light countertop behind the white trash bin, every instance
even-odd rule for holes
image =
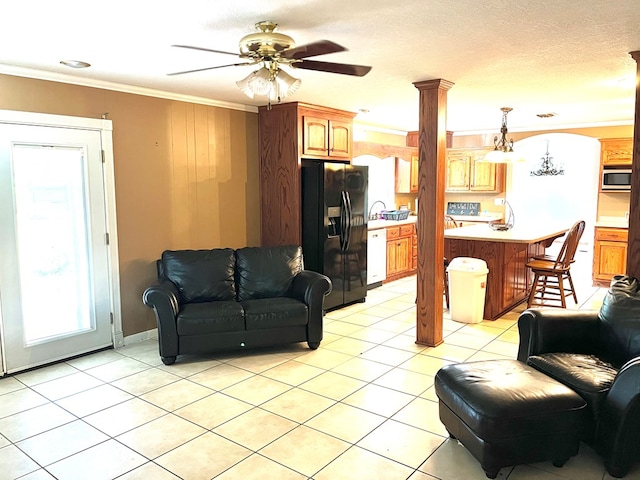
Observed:
[[[487,262],[483,318],[495,320],[527,299],[532,282],[527,262],[544,254],[568,229],[559,225],[516,225],[506,231],[488,225],[452,228],[444,232],[444,255],[449,260],[473,257]]]

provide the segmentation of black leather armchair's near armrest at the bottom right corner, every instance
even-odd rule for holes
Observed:
[[[613,380],[598,419],[596,450],[610,475],[623,477],[640,453],[640,357]]]

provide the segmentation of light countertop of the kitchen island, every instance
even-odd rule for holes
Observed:
[[[471,225],[468,227],[449,228],[444,231],[444,238],[455,240],[478,240],[483,242],[502,243],[538,243],[563,235],[570,225],[515,225],[511,230],[492,230],[489,225]]]

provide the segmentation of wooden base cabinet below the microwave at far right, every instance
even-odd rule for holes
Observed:
[[[626,228],[596,227],[593,242],[593,285],[608,287],[614,275],[627,270]]]

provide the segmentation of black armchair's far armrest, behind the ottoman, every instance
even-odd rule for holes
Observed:
[[[518,360],[550,352],[597,353],[597,310],[530,308],[520,314]]]

